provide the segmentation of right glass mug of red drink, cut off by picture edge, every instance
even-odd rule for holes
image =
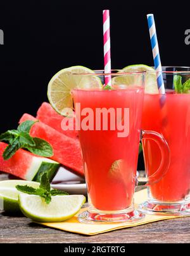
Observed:
[[[139,209],[146,213],[190,215],[190,94],[174,91],[174,84],[183,86],[190,79],[190,68],[163,67],[162,75],[166,94],[144,94],[142,129],[163,135],[170,148],[170,166],[159,182],[148,187],[148,201]],[[187,83],[190,87],[190,80],[186,86]],[[144,140],[143,154],[146,173],[152,175],[162,159],[159,148],[155,142]]]

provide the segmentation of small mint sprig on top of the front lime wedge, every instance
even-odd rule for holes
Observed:
[[[44,173],[41,177],[41,184],[39,188],[35,189],[28,185],[16,185],[16,189],[20,192],[26,194],[35,194],[36,196],[41,196],[45,199],[47,205],[51,202],[51,196],[65,196],[68,195],[65,191],[60,191],[58,189],[51,189],[49,179],[47,178],[47,173]]]

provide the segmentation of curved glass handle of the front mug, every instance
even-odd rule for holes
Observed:
[[[156,131],[141,131],[141,140],[154,140],[161,151],[162,161],[155,173],[149,177],[137,177],[137,185],[151,185],[162,179],[170,165],[170,148],[163,136]]]

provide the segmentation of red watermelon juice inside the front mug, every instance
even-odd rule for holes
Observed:
[[[108,130],[103,130],[102,124],[99,130],[79,130],[89,201],[98,210],[123,210],[133,203],[143,95],[143,87],[130,86],[127,90],[73,90],[75,108],[80,103],[76,122],[80,120],[81,124],[85,116],[80,114],[85,108],[94,113],[94,124],[98,122],[97,109],[111,108],[115,112],[121,109],[122,116],[116,118],[121,122],[124,109],[129,109],[126,137],[119,137],[117,128],[110,129],[111,114],[108,114]]]

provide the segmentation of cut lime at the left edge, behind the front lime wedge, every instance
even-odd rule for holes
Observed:
[[[26,180],[3,180],[0,182],[0,210],[16,213],[20,212],[18,205],[18,190],[16,185],[39,187],[39,182]]]

